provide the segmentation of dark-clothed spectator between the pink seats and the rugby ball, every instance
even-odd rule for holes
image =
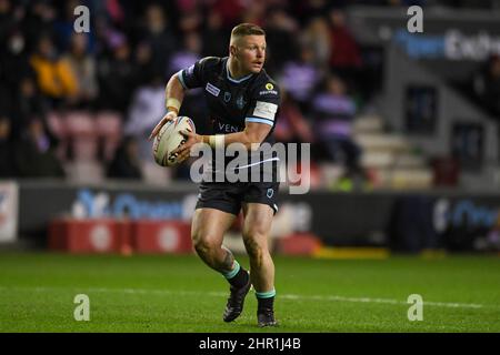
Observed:
[[[139,145],[136,138],[127,135],[114,152],[108,172],[108,178],[141,180]]]

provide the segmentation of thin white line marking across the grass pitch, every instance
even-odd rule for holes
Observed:
[[[13,291],[36,291],[36,292],[51,292],[51,291],[86,291],[86,292],[118,292],[126,294],[159,294],[159,295],[206,295],[212,297],[226,297],[227,293],[223,292],[197,292],[197,291],[171,291],[171,290],[149,290],[149,288],[107,288],[107,287],[6,287],[0,286],[0,291],[2,290],[13,290]],[[384,304],[404,304],[408,305],[408,302],[391,300],[391,298],[371,298],[371,297],[346,297],[346,296],[334,296],[334,295],[293,295],[293,294],[280,294],[280,298],[284,300],[306,300],[306,301],[332,301],[332,302],[357,302],[357,303],[384,303]],[[450,303],[450,302],[423,302],[423,305],[428,306],[437,306],[437,307],[450,307],[450,308],[482,308],[482,307],[498,307],[498,305],[491,304],[476,304],[476,303]]]

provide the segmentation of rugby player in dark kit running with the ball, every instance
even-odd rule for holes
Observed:
[[[266,32],[251,23],[234,27],[229,57],[203,58],[170,78],[166,88],[167,114],[153,129],[150,139],[158,134],[163,124],[177,118],[187,90],[202,88],[213,134],[183,132],[187,142],[173,152],[178,154],[178,161],[188,159],[197,143],[210,144],[212,149],[241,143],[250,155],[254,153],[256,144],[272,144],[280,91],[263,69],[264,61]],[[277,161],[278,156],[269,155],[258,159],[257,164],[253,161],[247,166],[239,166],[250,170],[258,164],[271,163],[271,181],[230,183],[224,180],[200,184],[191,236],[200,258],[221,273],[230,284],[224,322],[232,322],[241,314],[244,297],[253,285],[258,300],[258,325],[277,325],[273,311],[274,264],[268,247],[272,219],[278,210]],[[224,233],[240,211],[243,212],[242,237],[250,258],[250,273],[222,244]]]

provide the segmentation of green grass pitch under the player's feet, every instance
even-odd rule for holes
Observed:
[[[2,253],[0,332],[500,332],[498,256],[274,263],[280,326],[260,329],[253,291],[222,322],[228,284],[194,255]],[[89,296],[89,322],[73,317],[77,294]],[[423,298],[422,321],[408,320],[410,294]]]

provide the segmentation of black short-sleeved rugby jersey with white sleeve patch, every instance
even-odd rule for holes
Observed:
[[[241,132],[246,122],[272,126],[264,142],[273,143],[280,91],[266,70],[240,79],[232,79],[227,68],[228,57],[207,57],[178,77],[184,89],[203,88],[212,134]]]

